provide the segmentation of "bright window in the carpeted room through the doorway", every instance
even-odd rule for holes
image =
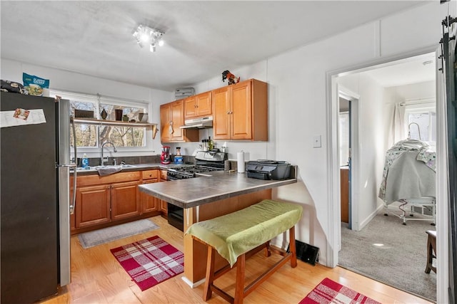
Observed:
[[[436,108],[428,104],[406,105],[406,135],[436,147]]]

